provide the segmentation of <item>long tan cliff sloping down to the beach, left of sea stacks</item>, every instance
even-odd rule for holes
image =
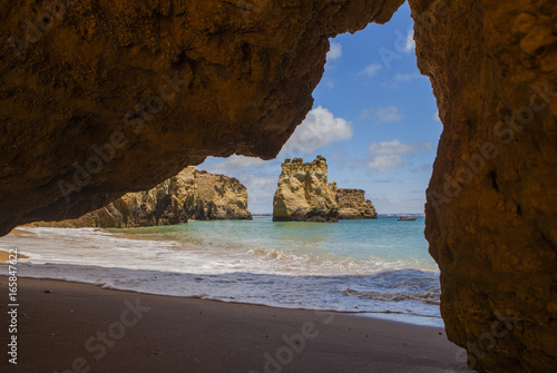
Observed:
[[[77,219],[31,223],[47,227],[146,227],[198,220],[252,219],[247,189],[237,179],[187,167],[155,188],[128,193]]]

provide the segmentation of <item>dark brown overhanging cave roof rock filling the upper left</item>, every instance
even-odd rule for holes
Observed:
[[[0,235],[207,156],[273,158],[312,107],[328,38],[402,2],[0,0]]]

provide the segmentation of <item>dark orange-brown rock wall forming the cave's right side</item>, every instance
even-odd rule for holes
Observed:
[[[444,126],[426,235],[448,337],[479,371],[555,372],[557,2],[410,6]]]

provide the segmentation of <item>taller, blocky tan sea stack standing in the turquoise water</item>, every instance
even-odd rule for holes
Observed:
[[[336,183],[329,184],[326,159],[284,159],[273,200],[273,222],[338,222]]]

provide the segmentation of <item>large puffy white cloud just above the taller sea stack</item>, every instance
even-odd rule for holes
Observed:
[[[331,111],[319,106],[307,112],[304,121],[284,145],[282,153],[312,154],[330,143],[348,140],[352,135],[351,122],[335,118]]]

